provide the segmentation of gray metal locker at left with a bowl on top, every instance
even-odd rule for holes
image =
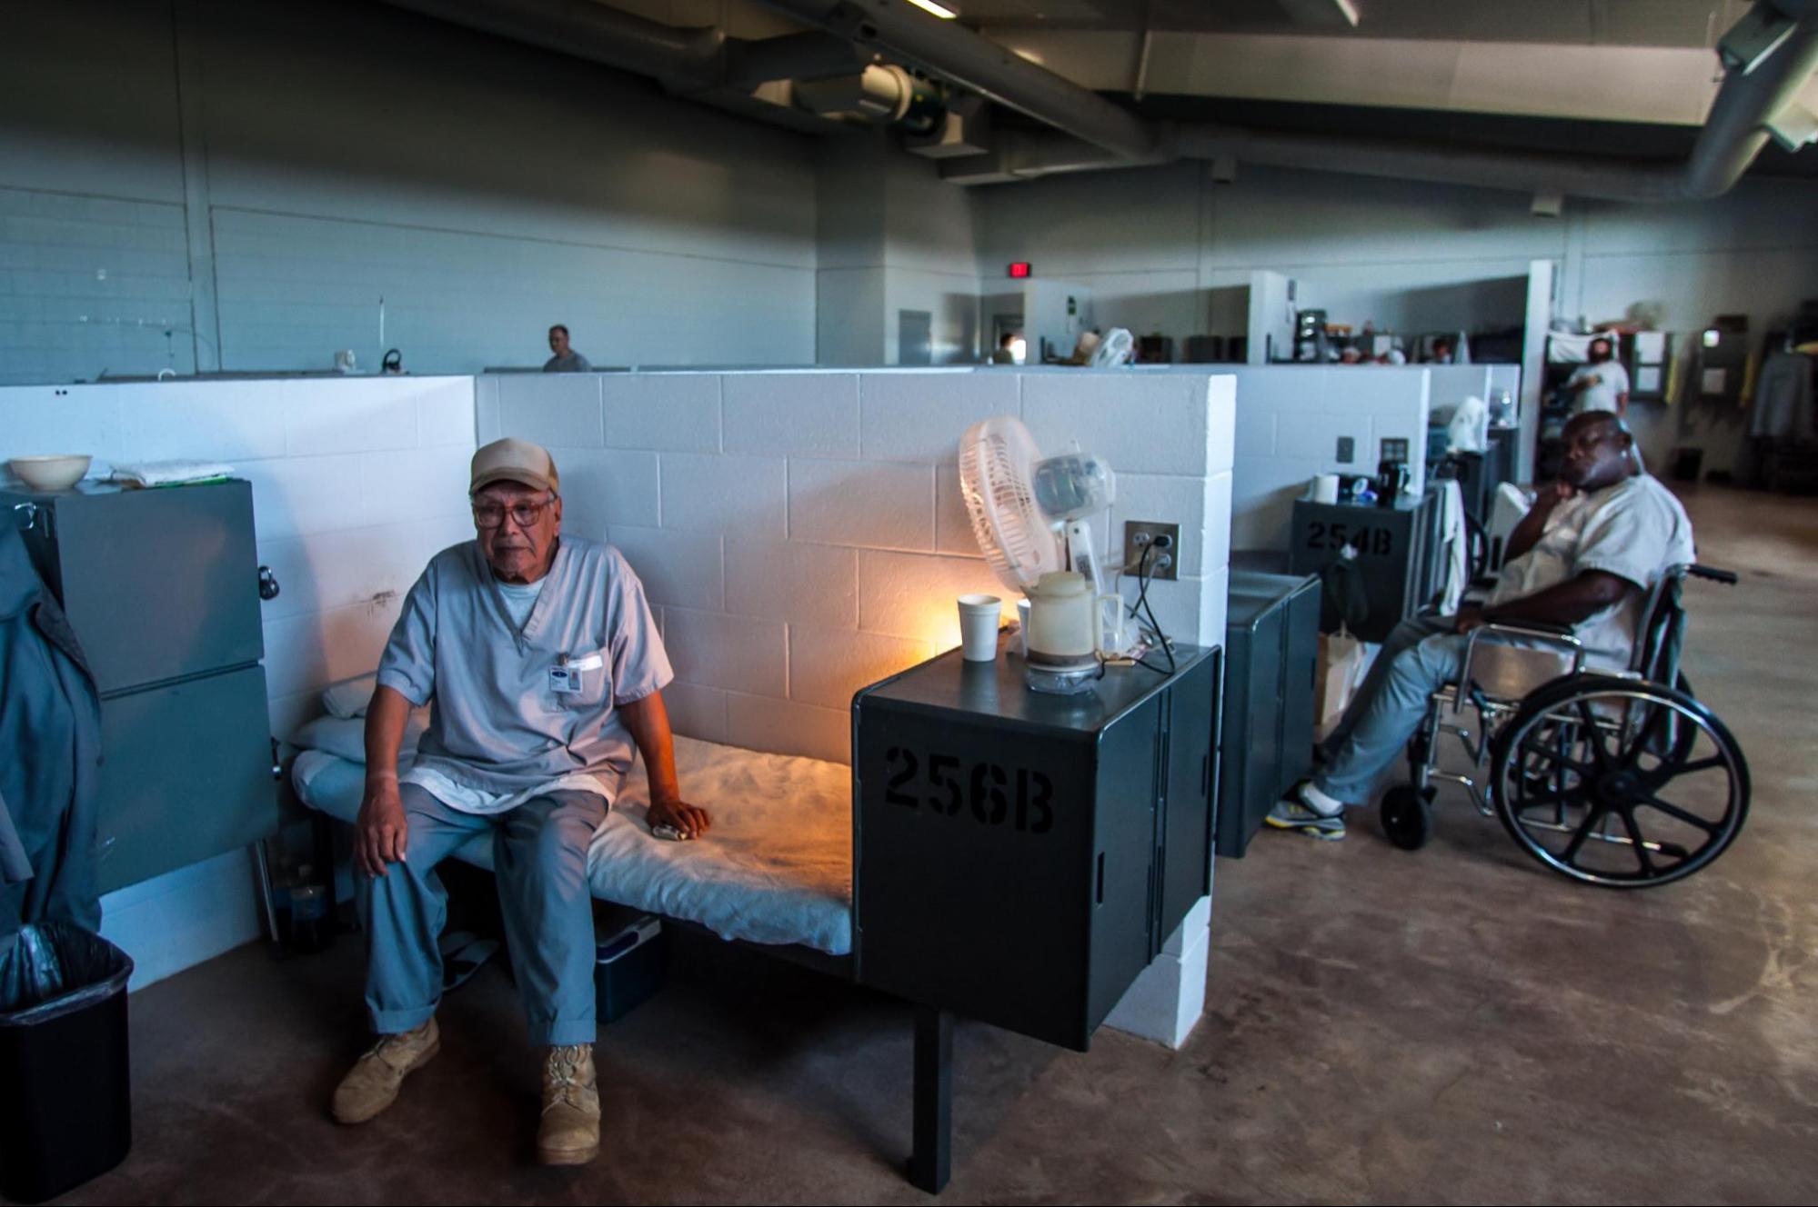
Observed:
[[[102,893],[278,829],[253,487],[0,493],[102,694]]]

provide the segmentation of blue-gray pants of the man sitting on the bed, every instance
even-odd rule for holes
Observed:
[[[587,842],[605,818],[596,793],[549,793],[509,813],[449,809],[416,783],[402,783],[409,823],[404,862],[360,876],[367,934],[365,1007],[373,1031],[396,1034],[429,1022],[442,1000],[447,891],[436,863],[474,834],[493,833],[493,871],[505,916],[511,971],[533,1045],[593,1043],[593,894]]]

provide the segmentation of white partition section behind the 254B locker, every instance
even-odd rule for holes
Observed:
[[[1322,473],[1376,474],[1383,440],[1407,440],[1414,491],[1427,482],[1429,369],[1394,365],[1234,367],[1238,389],[1231,542],[1287,549],[1294,500]],[[1353,460],[1338,460],[1349,436]]]

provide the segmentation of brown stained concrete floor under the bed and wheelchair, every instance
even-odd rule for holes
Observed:
[[[1689,498],[1689,674],[1754,771],[1722,862],[1653,893],[1529,863],[1453,802],[1420,854],[1264,834],[1218,865],[1211,1000],[1178,1052],[956,1036],[964,1202],[1818,1198],[1818,502]],[[136,1145],[69,1202],[916,1202],[909,1016],[716,943],[602,1032],[605,1154],[525,1165],[536,1072],[498,969],[362,1129],[358,943],[242,949],[133,1000]]]

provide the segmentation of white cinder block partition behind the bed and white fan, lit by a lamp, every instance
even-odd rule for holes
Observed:
[[[500,374],[480,440],[551,449],[564,525],[618,545],[656,605],[676,729],[849,760],[853,693],[958,645],[954,596],[1014,605],[973,540],[967,425],[1018,414],[1118,473],[1124,518],[1178,520],[1162,625],[1218,642],[1229,560],[1229,378],[1085,371]]]

